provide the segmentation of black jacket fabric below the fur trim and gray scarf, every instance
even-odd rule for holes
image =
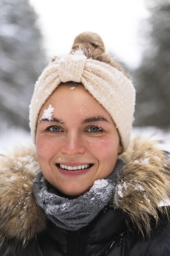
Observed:
[[[152,235],[145,239],[132,225],[130,231],[124,214],[113,209],[104,209],[88,227],[78,231],[58,228],[49,221],[36,240],[24,249],[18,246],[7,256],[170,256],[170,223],[167,218],[161,219],[157,228],[152,221]],[[8,246],[2,247],[0,255]]]

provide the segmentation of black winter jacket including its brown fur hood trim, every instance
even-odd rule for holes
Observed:
[[[170,256],[169,208],[158,205],[170,198],[167,155],[136,139],[121,157],[126,166],[112,204],[77,231],[56,227],[38,207],[33,148],[2,157],[0,256]]]

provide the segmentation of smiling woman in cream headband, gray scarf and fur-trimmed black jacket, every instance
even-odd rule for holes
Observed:
[[[0,255],[170,255],[168,153],[129,144],[134,105],[95,33],[49,63],[30,105],[36,153],[1,161]]]

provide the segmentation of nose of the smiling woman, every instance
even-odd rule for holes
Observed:
[[[64,139],[61,152],[66,155],[77,155],[84,153],[85,148],[81,137],[76,132],[69,132]]]

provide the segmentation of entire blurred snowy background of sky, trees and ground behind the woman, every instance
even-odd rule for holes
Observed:
[[[98,33],[132,74],[132,137],[162,140],[170,151],[170,0],[1,0],[0,11],[0,154],[31,140],[35,81],[83,31]]]

